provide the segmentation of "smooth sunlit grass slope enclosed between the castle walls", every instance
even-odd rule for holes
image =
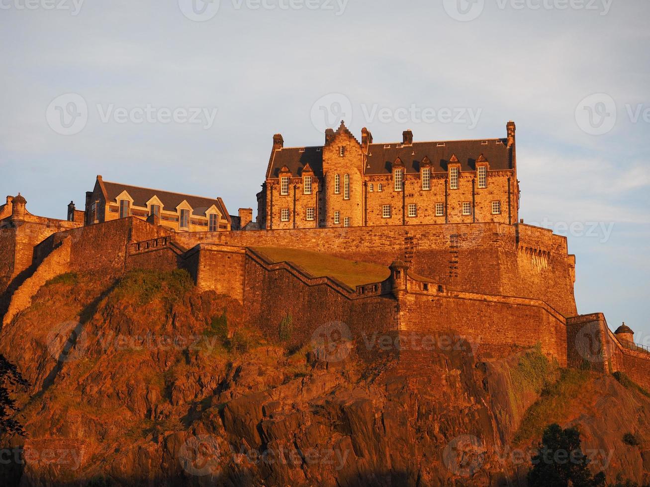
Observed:
[[[273,262],[293,262],[304,268],[314,277],[333,277],[351,288],[381,282],[387,279],[390,271],[387,267],[367,262],[355,262],[320,252],[284,247],[252,247]]]

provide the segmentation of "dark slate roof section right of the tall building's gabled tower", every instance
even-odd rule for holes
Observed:
[[[458,158],[461,171],[476,171],[476,159],[480,155],[487,159],[490,170],[512,169],[507,140],[483,139],[413,142],[413,145],[370,144],[365,173],[390,174],[391,166],[398,157],[404,162],[407,173],[419,173],[420,163],[425,156],[431,161],[433,173],[445,173],[452,155]]]

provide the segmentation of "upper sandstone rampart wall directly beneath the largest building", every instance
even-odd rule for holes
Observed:
[[[500,223],[408,225],[348,229],[176,234],[187,248],[200,242],[287,246],[389,266],[411,260],[411,271],[454,290],[511,295],[547,302],[564,316],[577,314],[575,261],[566,239],[528,225]]]

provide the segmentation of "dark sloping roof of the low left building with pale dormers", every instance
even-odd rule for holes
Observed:
[[[151,188],[139,188],[138,186],[129,186],[129,184],[120,184],[119,182],[103,181],[104,188],[107,193],[107,200],[111,203],[116,202],[116,197],[123,191],[126,191],[133,198],[133,205],[147,206],[147,201],[157,196],[164,206],[165,210],[175,210],[176,206],[187,201],[188,205],[192,206],[192,214],[195,216],[205,216],[205,212],[212,205],[215,205],[219,211],[228,218],[226,205],[221,198],[205,198],[201,196],[193,196],[180,193],[171,193],[162,190],[153,190]]]

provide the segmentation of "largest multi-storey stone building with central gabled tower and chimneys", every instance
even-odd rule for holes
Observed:
[[[515,223],[519,182],[515,123],[506,137],[445,142],[361,143],[343,122],[318,147],[273,138],[257,194],[261,229]]]

